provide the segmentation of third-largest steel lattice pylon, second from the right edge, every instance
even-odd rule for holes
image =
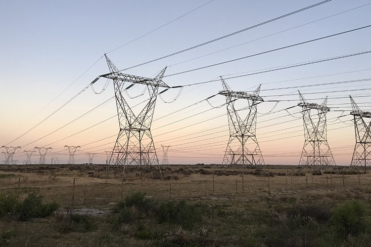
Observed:
[[[299,165],[307,165],[312,172],[324,172],[324,166],[330,166],[339,173],[333,159],[330,146],[327,142],[326,114],[330,111],[327,107],[327,97],[321,105],[308,103],[299,92],[304,122],[304,146],[300,156]]]

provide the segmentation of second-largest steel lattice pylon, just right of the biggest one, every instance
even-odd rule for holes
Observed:
[[[264,100],[259,96],[260,85],[250,94],[243,91],[232,91],[228,84],[221,77],[223,91],[219,94],[226,97],[228,123],[230,138],[226,153],[223,158],[223,165],[235,166],[244,173],[245,166],[251,168],[253,165],[265,165],[258,140],[256,139],[256,114],[258,104]],[[238,99],[244,99],[247,111],[244,120],[238,114],[234,104]],[[227,167],[227,168],[228,168]],[[261,169],[259,166],[257,166]],[[262,169],[261,169],[262,170]]]

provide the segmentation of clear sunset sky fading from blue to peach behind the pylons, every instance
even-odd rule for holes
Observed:
[[[0,146],[21,147],[13,157],[17,164],[27,158],[23,151],[35,146],[52,148],[47,163],[52,157],[66,163],[65,145],[81,146],[76,163],[87,163],[87,153],[96,153],[94,163],[105,163],[105,151],[112,150],[119,130],[113,82],[100,94],[87,88],[59,110],[97,76],[109,72],[104,53],[118,69],[125,69],[317,2],[3,0]],[[368,26],[370,13],[370,0],[332,0],[125,73],[154,77],[167,66],[163,81],[169,86],[220,76],[235,91],[252,92],[261,84],[260,96],[266,102],[258,105],[256,137],[266,164],[299,163],[304,131],[298,90],[313,103],[321,104],[328,96],[327,140],[336,164],[349,165],[355,144],[349,95],[362,110],[371,111],[371,27],[172,74]],[[267,72],[360,52],[366,53]],[[246,76],[228,79],[239,75]],[[95,82],[94,90],[101,91],[105,83]],[[123,92],[134,112],[144,106],[139,104],[147,98],[140,96],[143,89],[137,85]],[[229,139],[225,97],[205,100],[222,89],[218,80],[184,86],[182,91],[170,89],[157,97],[151,132],[160,163],[161,145],[170,145],[171,164],[222,163]],[[243,108],[246,103],[237,105]],[[1,154],[0,163],[4,159]],[[38,161],[35,153],[32,162]]]

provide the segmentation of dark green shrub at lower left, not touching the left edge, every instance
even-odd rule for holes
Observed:
[[[58,204],[55,202],[43,204],[43,196],[31,193],[22,203],[17,205],[16,214],[19,220],[27,221],[31,218],[47,217],[57,210],[58,207]]]

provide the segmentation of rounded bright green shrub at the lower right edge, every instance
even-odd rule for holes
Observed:
[[[338,237],[346,238],[349,234],[358,236],[370,230],[371,224],[366,215],[366,205],[362,201],[352,200],[332,210],[331,224]]]

